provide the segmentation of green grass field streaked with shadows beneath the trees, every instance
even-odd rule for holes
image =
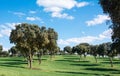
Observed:
[[[120,60],[114,59],[114,67],[110,67],[109,59],[99,58],[98,63],[92,56],[79,61],[79,56],[56,56],[50,60],[42,57],[41,65],[35,59],[33,69],[20,57],[1,57],[0,76],[120,76]]]

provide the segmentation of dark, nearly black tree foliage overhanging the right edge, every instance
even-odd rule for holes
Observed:
[[[114,49],[120,54],[120,0],[99,0],[104,11],[111,18],[113,30],[112,41]],[[111,50],[112,51],[112,50]]]

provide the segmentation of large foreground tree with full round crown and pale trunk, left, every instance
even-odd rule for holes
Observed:
[[[10,42],[14,43],[25,55],[30,69],[32,68],[33,55],[39,49],[36,43],[43,40],[40,38],[38,41],[39,35],[41,35],[41,31],[38,25],[27,23],[16,25],[10,34]]]

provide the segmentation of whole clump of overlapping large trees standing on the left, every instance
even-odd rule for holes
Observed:
[[[9,51],[15,54],[22,54],[28,61],[29,68],[32,68],[33,55],[38,54],[41,63],[42,50],[49,50],[52,58],[57,46],[58,34],[53,28],[39,27],[35,24],[22,23],[16,25],[10,34],[10,43],[14,43]],[[41,50],[42,49],[42,50]]]

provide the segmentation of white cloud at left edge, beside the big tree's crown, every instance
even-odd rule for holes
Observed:
[[[20,23],[5,23],[0,25],[0,37],[10,36],[11,29],[15,29],[15,25]]]

